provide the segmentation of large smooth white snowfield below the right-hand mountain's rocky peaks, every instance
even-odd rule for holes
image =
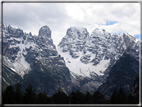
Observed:
[[[69,68],[69,70],[77,76],[90,78],[91,72],[95,72],[97,75],[104,75],[103,72],[108,68],[110,63],[110,60],[104,60],[103,58],[103,60],[101,60],[100,63],[96,66],[94,66],[93,63],[84,64],[80,61],[80,58],[84,55],[82,52],[79,53],[80,56],[78,58],[74,59],[71,57],[71,55],[69,55],[69,52],[64,53],[59,47],[57,48],[57,51],[62,57],[64,57],[65,64]],[[91,59],[93,59],[94,54],[91,54],[91,56]]]

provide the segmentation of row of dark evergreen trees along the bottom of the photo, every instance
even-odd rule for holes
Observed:
[[[123,92],[122,88],[119,91],[114,89],[111,98],[107,99],[99,91],[94,91],[91,94],[89,91],[86,94],[80,91],[72,91],[66,95],[60,88],[52,97],[49,97],[46,92],[35,93],[32,85],[29,84],[25,91],[21,91],[22,85],[17,84],[14,89],[12,85],[2,92],[2,104],[138,104],[139,102],[130,93],[129,96]]]

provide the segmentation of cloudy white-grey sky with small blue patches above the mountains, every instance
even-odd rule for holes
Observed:
[[[3,3],[3,22],[38,36],[47,25],[57,46],[70,27],[140,37],[139,3]]]

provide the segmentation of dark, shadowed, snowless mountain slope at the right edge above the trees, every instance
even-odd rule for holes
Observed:
[[[137,76],[139,76],[139,60],[125,52],[110,69],[109,76],[98,90],[110,97],[114,89],[122,88],[126,95],[129,95]]]

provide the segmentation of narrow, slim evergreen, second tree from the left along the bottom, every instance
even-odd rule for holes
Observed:
[[[17,83],[17,86],[16,86],[16,92],[15,92],[15,101],[16,101],[16,104],[21,104],[22,103],[22,91],[21,91],[21,84]]]

